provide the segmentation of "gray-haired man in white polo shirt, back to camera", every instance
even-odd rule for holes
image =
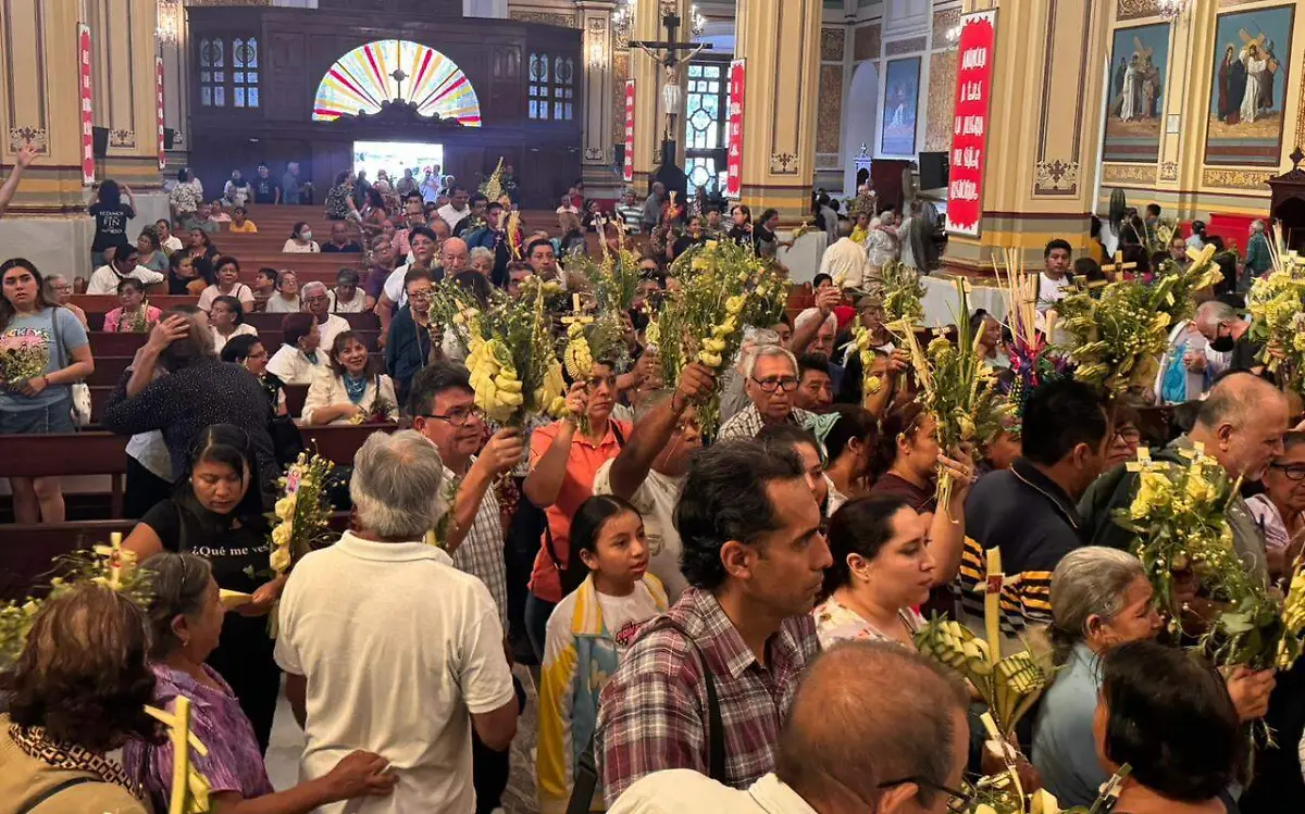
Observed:
[[[517,697],[488,588],[424,540],[449,510],[444,462],[418,432],[376,432],[348,493],[358,531],[304,556],[281,597],[277,664],[307,736],[300,779],[365,749],[398,785],[351,813],[471,811],[471,731],[508,749]]]

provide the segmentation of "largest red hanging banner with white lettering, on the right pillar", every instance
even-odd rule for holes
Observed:
[[[958,235],[977,236],[983,220],[983,172],[996,43],[996,10],[962,17],[947,176],[947,231]]]

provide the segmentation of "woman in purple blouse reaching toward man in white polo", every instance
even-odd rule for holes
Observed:
[[[213,566],[193,554],[163,552],[145,564],[150,575],[147,607],[150,669],[157,680],[155,707],[175,711],[176,701],[191,701],[191,732],[206,746],[191,761],[209,784],[211,810],[300,814],[331,802],[385,796],[397,777],[384,774],[385,758],[352,751],[321,777],[277,792],[268,779],[262,750],[248,716],[223,680],[205,661],[218,647],[226,609]],[[172,796],[172,744],[134,740],[123,749],[123,764],[140,779],[155,811],[166,811]]]

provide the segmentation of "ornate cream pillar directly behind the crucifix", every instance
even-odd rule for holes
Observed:
[[[693,4],[690,0],[638,0],[634,7],[634,30],[632,40],[664,42],[667,30],[662,17],[679,14],[681,25],[676,30],[677,42],[689,42]],[[683,55],[681,55],[683,56]],[[649,176],[662,163],[662,138],[666,134],[666,103],[662,89],[667,83],[667,72],[647,52],[630,47],[630,76],[634,78],[634,187],[639,194],[646,194]],[[676,113],[676,130],[671,133],[679,146],[676,160],[684,164],[684,63],[676,68],[673,80],[680,86],[680,102]]]

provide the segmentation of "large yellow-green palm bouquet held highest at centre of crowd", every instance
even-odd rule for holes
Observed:
[[[744,326],[774,325],[788,299],[783,273],[731,240],[689,249],[676,258],[672,273],[680,288],[667,294],[646,334],[656,346],[668,387],[694,361],[719,372],[739,354]],[[703,434],[713,437],[720,423],[719,387],[698,410]]]

